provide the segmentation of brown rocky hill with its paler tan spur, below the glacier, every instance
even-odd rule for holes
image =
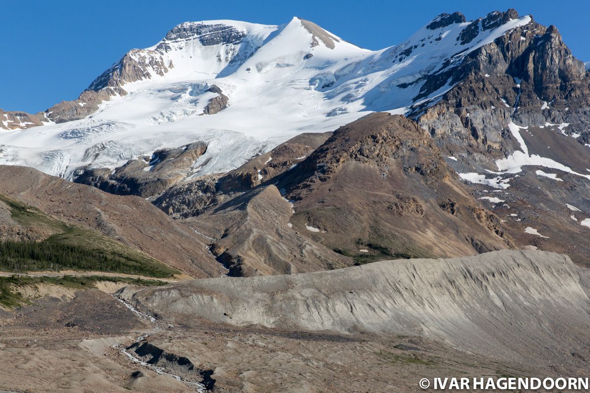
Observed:
[[[225,175],[178,184],[154,203],[188,217],[238,276],[516,246],[430,134],[385,113],[321,138],[299,136]]]

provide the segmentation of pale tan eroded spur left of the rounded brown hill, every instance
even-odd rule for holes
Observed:
[[[290,225],[292,207],[277,187],[259,187],[218,209],[186,221],[215,234],[211,252],[232,276],[277,275],[336,269],[352,260],[302,237]]]

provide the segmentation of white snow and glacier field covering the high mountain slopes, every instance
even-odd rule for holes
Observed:
[[[143,61],[161,56],[163,64],[173,65],[167,72],[159,75],[149,65],[143,80],[123,84],[129,94],[103,101],[82,120],[0,131],[0,164],[71,178],[80,166],[114,168],[158,148],[200,140],[209,147],[191,176],[231,170],[296,134],[332,131],[371,111],[405,113],[412,104],[434,103],[452,86],[415,102],[420,77],[446,60],[447,67],[460,64],[469,52],[530,20],[480,29],[465,45],[457,37],[469,22],[423,27],[380,51],[356,47],[299,18],[280,26],[186,22],[173,39],[143,51]],[[220,29],[231,33],[221,42],[215,39]],[[229,97],[228,107],[201,115],[217,95],[207,91],[213,84]]]

